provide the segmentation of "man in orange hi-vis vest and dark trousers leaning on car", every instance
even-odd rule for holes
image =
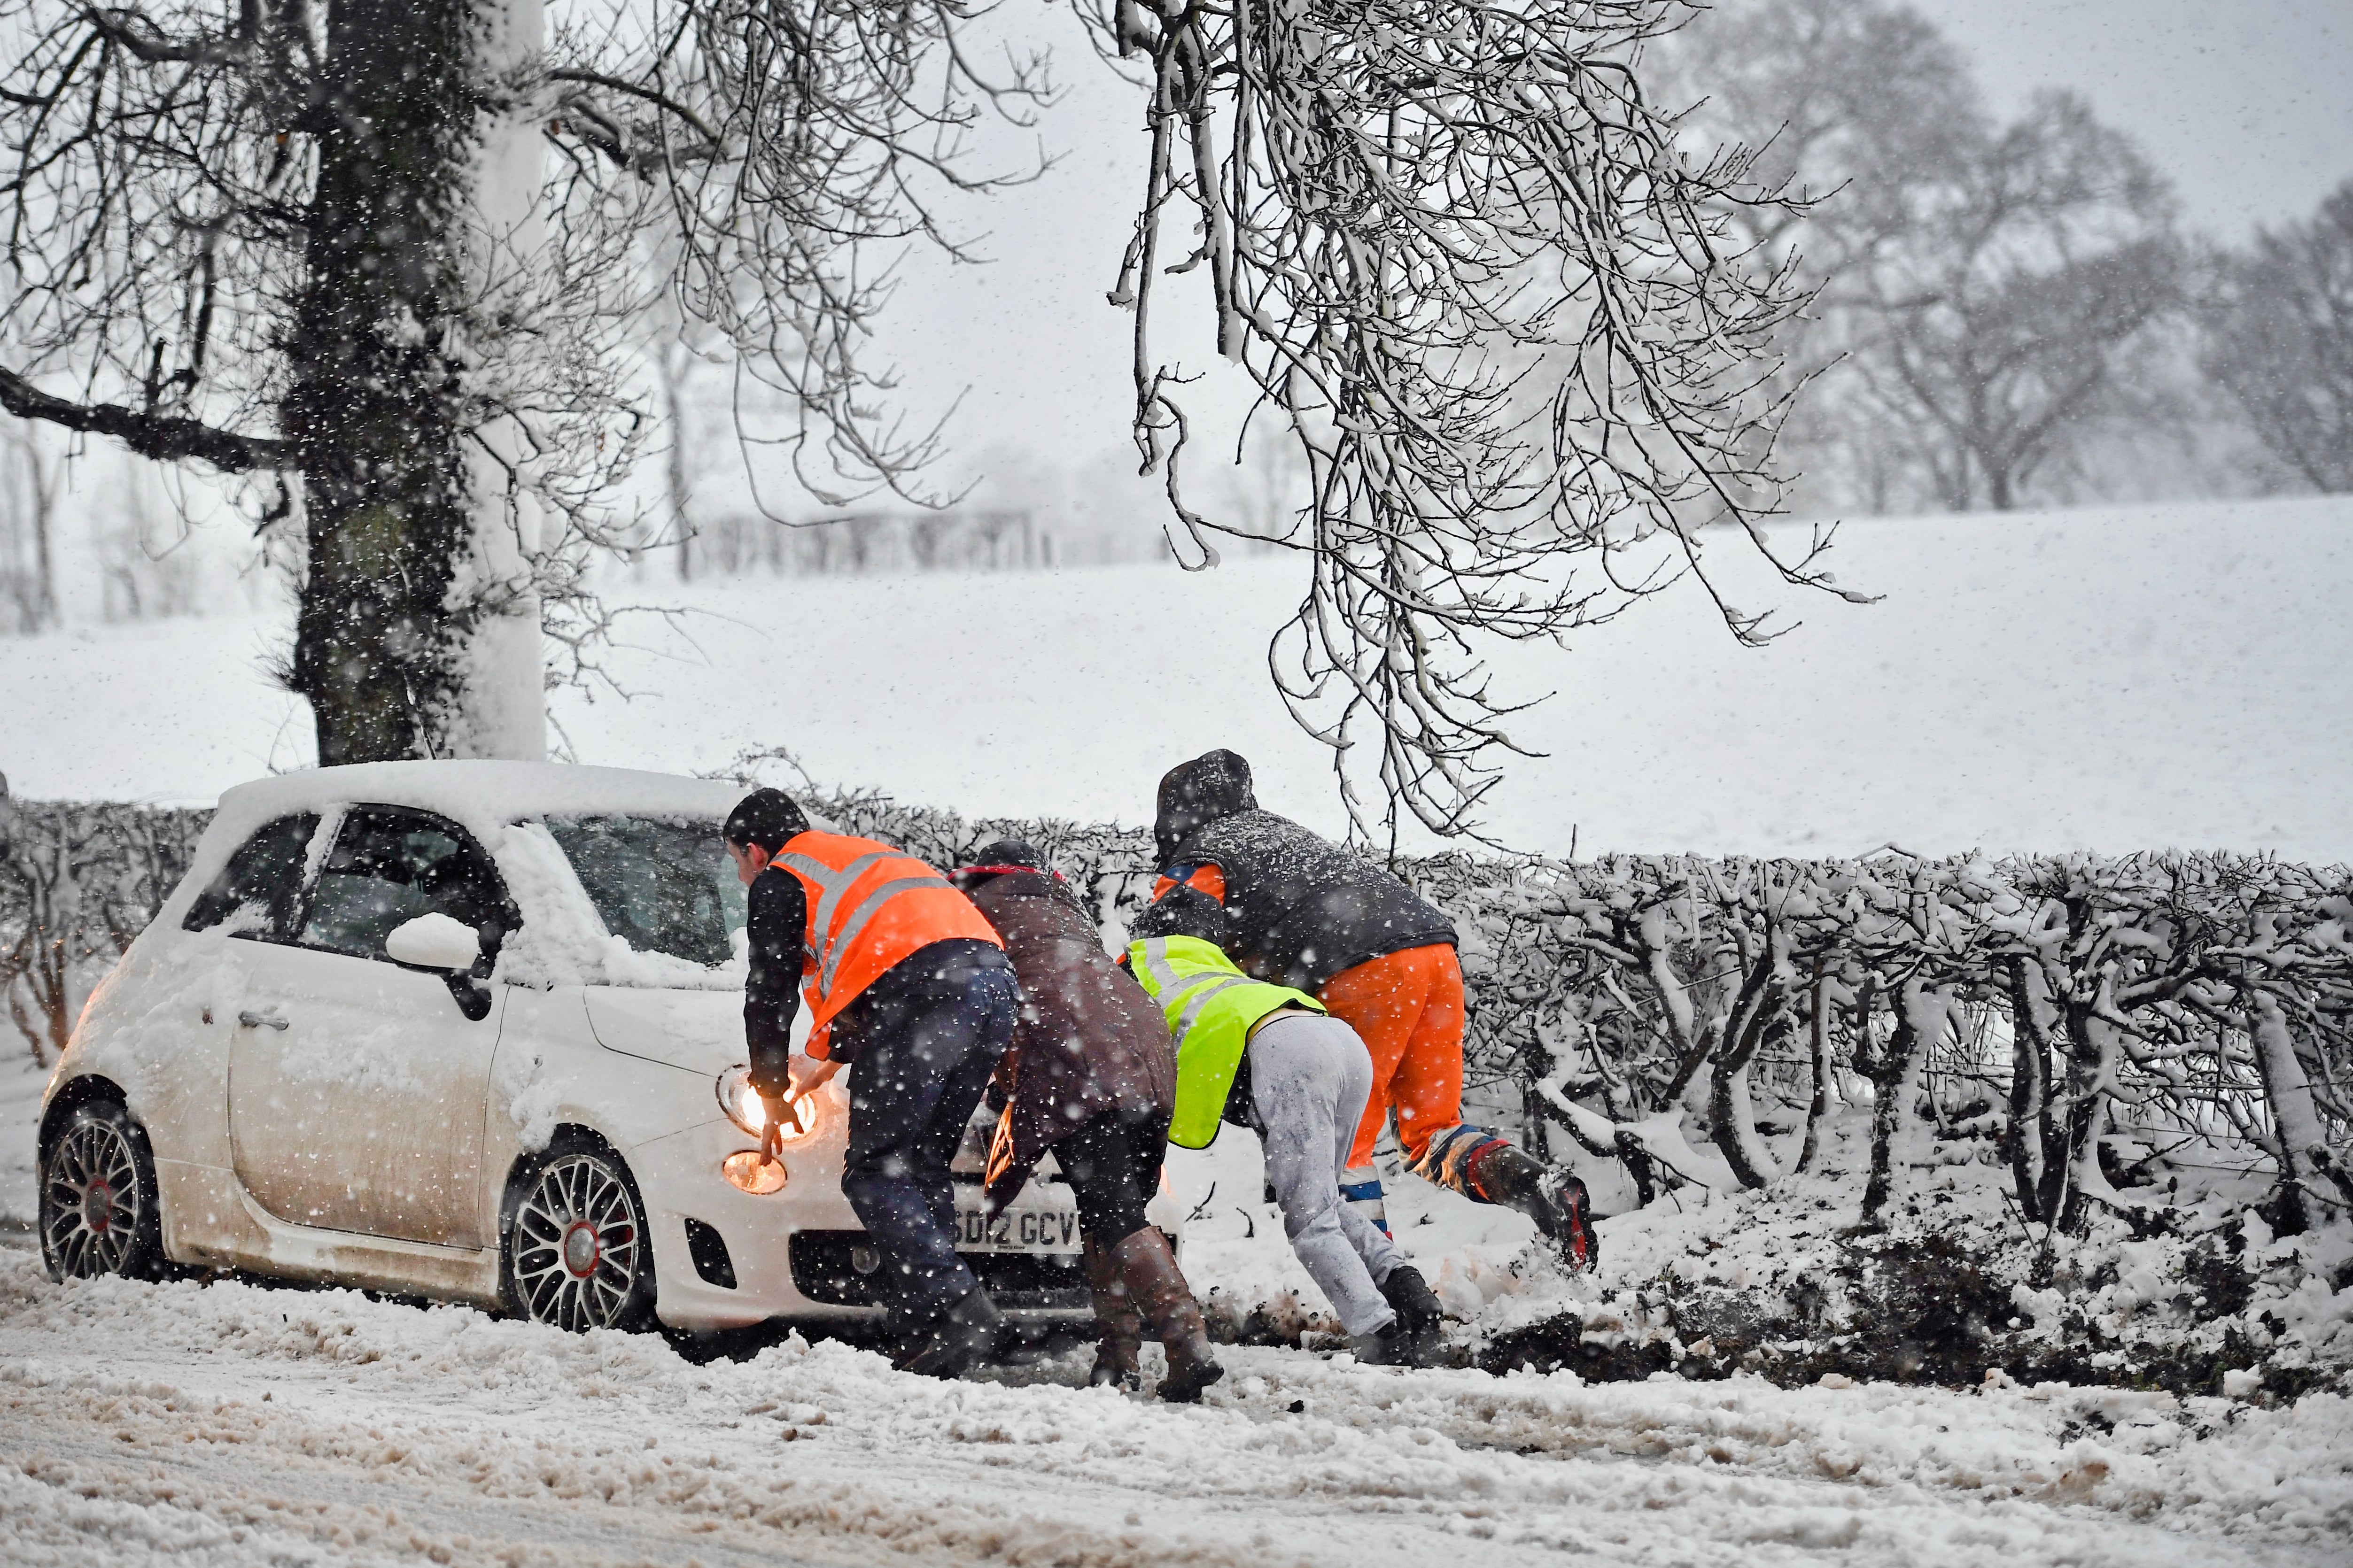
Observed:
[[[751,889],[744,1041],[767,1126],[849,1067],[842,1197],[896,1293],[896,1366],[955,1378],[1000,1333],[995,1305],[955,1255],[948,1164],[1014,1034],[1021,990],[1005,943],[929,865],[812,830],[781,790],[746,795],[722,837]],[[809,1065],[795,1070],[802,999]]]

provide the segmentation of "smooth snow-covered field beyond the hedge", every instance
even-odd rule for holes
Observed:
[[[1715,552],[1737,559],[1722,541]],[[1492,823],[1565,851],[1859,853],[2273,849],[2353,858],[2353,498],[1852,524],[1845,607],[1732,571],[1802,625],[1732,646],[1694,592],[1506,649],[1513,724]],[[645,693],[562,693],[581,762],[696,771],[788,745],[826,783],[986,816],[1146,820],[1169,762],[1235,745],[1275,809],[1329,825],[1327,757],[1266,682],[1299,564],[1186,576],[755,578],[616,597],[609,665]],[[0,639],[0,773],[28,797],[212,799],[306,759],[268,689],[282,618]]]

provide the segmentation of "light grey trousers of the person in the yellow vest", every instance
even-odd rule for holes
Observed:
[[[1379,1281],[1405,1262],[1381,1229],[1339,1197],[1355,1124],[1372,1095],[1372,1056],[1355,1030],[1320,1013],[1282,1013],[1249,1041],[1252,1121],[1266,1143],[1266,1180],[1282,1232],[1351,1333],[1377,1333],[1398,1314]]]

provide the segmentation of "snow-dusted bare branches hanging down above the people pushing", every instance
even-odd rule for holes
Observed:
[[[1525,748],[1494,639],[1560,639],[1694,576],[1734,524],[1786,583],[1828,588],[1826,536],[1784,555],[1772,334],[1800,306],[1727,209],[1777,207],[1746,160],[1694,165],[1635,61],[1666,0],[1120,2],[1106,47],[1151,66],[1144,202],[1113,303],[1134,310],[1134,435],[1179,559],[1257,534],[1186,501],[1184,376],[1151,343],[1165,273],[1202,268],[1217,353],[1306,465],[1282,543],[1308,592],[1268,649],[1332,748],[1355,830],[1478,832]],[[1162,221],[1198,242],[1174,266]],[[1593,557],[1598,581],[1577,574]],[[1833,590],[1842,592],[1842,590]],[[1369,743],[1374,762],[1351,752]],[[1369,773],[1369,778],[1365,778]],[[1369,804],[1377,783],[1381,804]]]

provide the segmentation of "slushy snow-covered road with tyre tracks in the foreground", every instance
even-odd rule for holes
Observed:
[[[824,1342],[692,1366],[659,1338],[344,1291],[59,1288],[0,1248],[0,1556],[2158,1568],[2348,1561],[2353,1540],[2337,1396],[1231,1361],[1179,1410],[922,1382]]]

